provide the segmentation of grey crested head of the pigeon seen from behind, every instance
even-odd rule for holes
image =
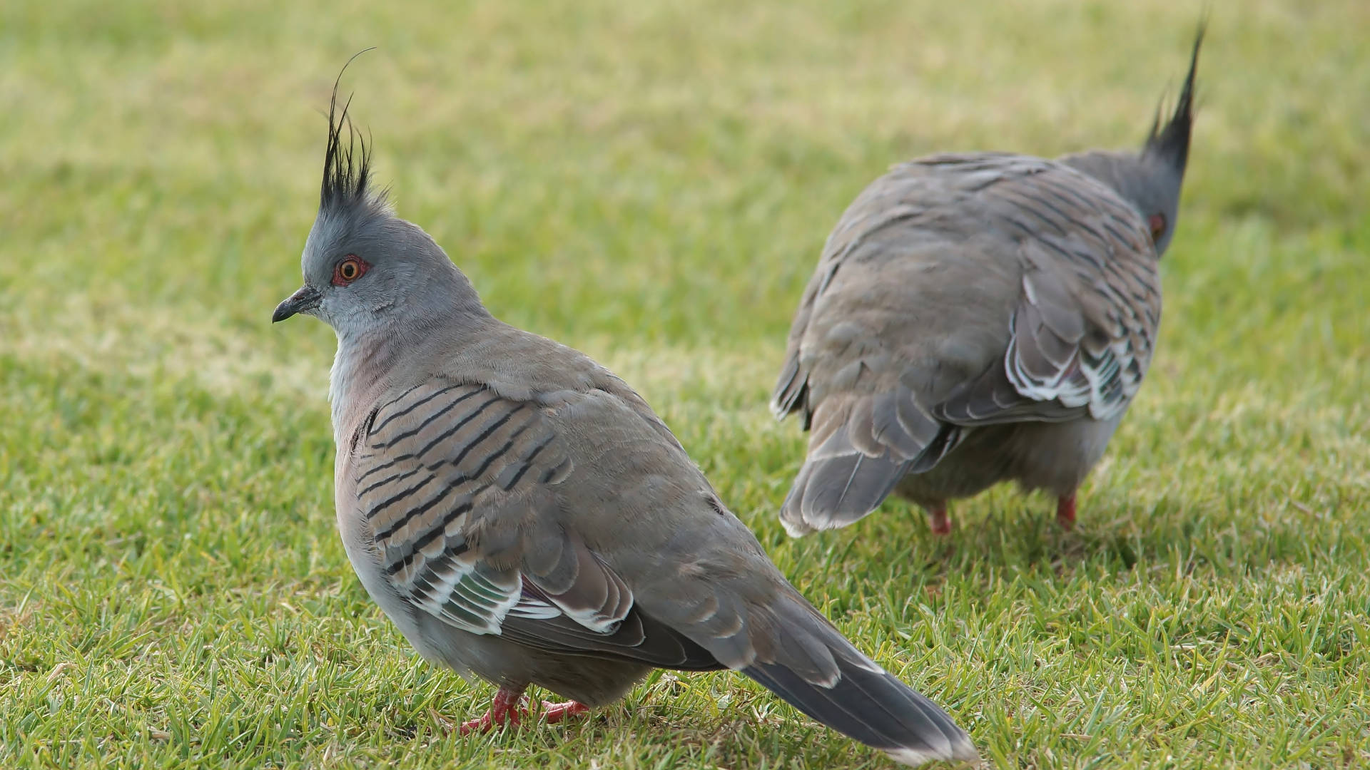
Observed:
[[[1189,160],[1189,129],[1193,125],[1195,71],[1199,66],[1199,47],[1203,26],[1195,37],[1189,58],[1189,74],[1180,90],[1175,111],[1160,125],[1160,111],[1151,125],[1151,133],[1140,152],[1095,149],[1062,156],[1060,160],[1103,181],[1118,190],[1141,212],[1151,227],[1156,256],[1166,252],[1175,233],[1180,210],[1180,185]]]

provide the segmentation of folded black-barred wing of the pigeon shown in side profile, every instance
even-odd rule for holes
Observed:
[[[351,469],[386,580],[419,611],[470,633],[721,667],[636,611],[623,580],[556,525],[553,490],[574,463],[544,408],[436,378],[371,415]]]

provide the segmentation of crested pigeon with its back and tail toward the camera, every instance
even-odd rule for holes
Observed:
[[[948,500],[1010,480],[1056,495],[1074,523],[1151,363],[1201,41],[1140,152],[934,155],[843,214],[771,399],[811,432],[781,510],[790,534],[849,525],[892,492],[947,533]]]

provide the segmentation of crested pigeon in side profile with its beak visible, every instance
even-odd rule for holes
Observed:
[[[555,722],[652,667],[733,669],[899,762],[975,759],[941,708],[785,581],[632,388],[485,310],[370,189],[353,136],[347,105],[330,108],[304,286],[271,321],[337,332],[348,559],[423,658],[499,686],[462,732],[527,717],[530,684],[571,699],[538,710]]]

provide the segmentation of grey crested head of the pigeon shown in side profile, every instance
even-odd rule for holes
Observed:
[[[319,212],[300,259],[304,285],[277,306],[271,322],[314,315],[347,338],[384,330],[404,336],[452,318],[489,318],[441,247],[395,215],[386,190],[371,188],[370,148],[348,118],[351,99],[341,112],[337,100],[334,82]]]

